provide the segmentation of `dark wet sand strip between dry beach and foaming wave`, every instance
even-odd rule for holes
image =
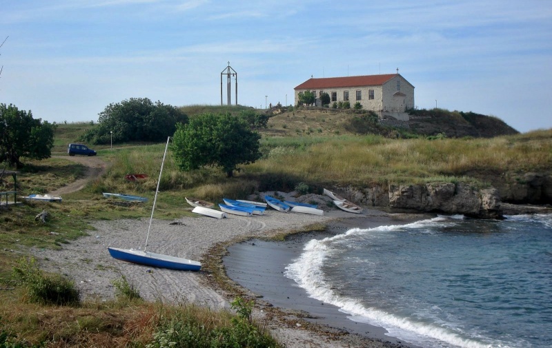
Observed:
[[[301,232],[289,235],[284,241],[248,240],[228,247],[224,256],[224,267],[227,276],[239,286],[248,289],[253,296],[261,298],[268,306],[278,307],[284,312],[297,312],[304,320],[326,327],[332,327],[382,343],[382,347],[418,347],[403,342],[383,327],[366,323],[357,323],[348,318],[348,314],[339,311],[338,307],[322,303],[311,298],[296,283],[283,276],[284,267],[293,258],[302,254],[304,245],[311,239],[342,234],[348,229],[373,228],[383,225],[404,225],[424,218],[421,214],[395,214],[385,216],[351,217],[328,223],[324,232]]]

